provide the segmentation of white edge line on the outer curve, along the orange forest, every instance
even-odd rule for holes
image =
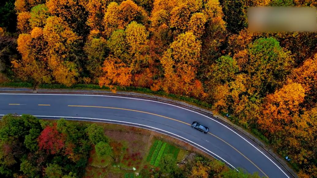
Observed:
[[[184,110],[191,111],[191,112],[194,112],[194,113],[196,113],[196,114],[202,115],[202,116],[204,116],[204,117],[206,117],[206,118],[209,118],[209,119],[211,119],[211,120],[217,122],[218,124],[223,125],[223,126],[226,127],[227,129],[231,130],[233,133],[235,133],[236,135],[238,135],[239,137],[241,137],[243,140],[245,140],[247,143],[249,143],[250,145],[252,145],[256,150],[258,150],[260,153],[262,153],[262,155],[264,155],[266,158],[268,158],[271,162],[273,162],[273,164],[274,164],[277,168],[279,168],[279,169],[289,178],[289,176],[288,176],[274,161],[272,161],[272,160],[271,160],[268,156],[266,156],[261,150],[259,150],[258,148],[256,148],[252,143],[250,143],[248,140],[246,140],[246,139],[243,138],[241,135],[239,135],[238,133],[236,133],[234,130],[230,129],[230,128],[227,127],[226,125],[224,125],[224,124],[218,122],[217,120],[215,120],[215,119],[213,119],[213,118],[210,118],[210,117],[208,117],[208,116],[205,116],[204,114],[201,114],[201,113],[199,113],[199,112],[192,111],[192,110],[189,110],[189,109],[186,109],[186,108],[177,106],[177,105],[172,105],[172,104],[168,104],[168,103],[164,103],[164,102],[159,102],[159,101],[148,100],[148,99],[130,98],[130,97],[122,97],[122,96],[91,95],[91,94],[87,94],[87,95],[84,95],[84,94],[36,94],[36,93],[0,93],[0,94],[8,94],[8,95],[18,94],[18,95],[103,96],[103,97],[125,98],[125,99],[135,99],[135,100],[149,101],[149,102],[161,103],[161,104],[164,104],[164,105],[170,105],[170,106],[178,107],[178,108],[181,108],[181,109],[184,109]]]

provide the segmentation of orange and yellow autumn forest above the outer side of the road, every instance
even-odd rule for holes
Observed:
[[[261,133],[292,158],[299,177],[317,177],[317,33],[247,29],[250,6],[317,1],[10,2],[16,24],[0,26],[0,83],[135,86],[193,97]]]

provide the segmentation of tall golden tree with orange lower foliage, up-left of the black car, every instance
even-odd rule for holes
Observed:
[[[163,90],[188,96],[204,97],[202,84],[195,78],[200,62],[201,43],[193,33],[180,34],[171,43],[161,63],[164,68]]]

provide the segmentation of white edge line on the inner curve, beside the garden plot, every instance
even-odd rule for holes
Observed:
[[[0,114],[0,116],[4,116],[4,115],[3,115],[3,114]],[[22,115],[18,115],[18,116],[22,116]],[[126,124],[136,124],[136,123],[132,123],[132,122],[125,122],[125,121],[118,121],[118,120],[110,120],[110,119],[99,119],[99,118],[81,118],[81,117],[67,117],[67,116],[35,116],[35,117],[93,119],[93,120],[103,120],[103,121],[120,122],[120,123],[126,123]],[[199,146],[199,147],[205,149],[206,151],[210,152],[211,154],[217,156],[218,158],[220,158],[221,160],[223,160],[224,162],[226,162],[227,164],[229,164],[232,168],[236,169],[234,166],[232,166],[229,162],[227,162],[226,160],[224,160],[222,157],[218,156],[217,154],[211,152],[210,150],[204,148],[203,146],[200,146],[200,145],[198,145],[197,143],[194,143],[194,142],[192,142],[192,141],[190,141],[190,140],[188,140],[188,139],[186,139],[186,138],[184,138],[184,137],[181,137],[181,136],[176,135],[176,134],[174,134],[174,133],[171,133],[171,132],[168,132],[168,131],[165,131],[165,130],[162,130],[162,129],[158,129],[158,128],[155,128],[155,127],[151,127],[151,126],[147,126],[147,125],[142,125],[142,124],[136,124],[136,125],[140,125],[140,126],[149,127],[149,128],[152,128],[152,129],[161,130],[161,131],[163,131],[163,132],[166,132],[166,133],[175,135],[175,136],[177,136],[177,137],[179,137],[179,138],[182,138],[182,139],[184,139],[184,140],[186,140],[186,141],[188,141],[188,142],[191,142],[191,143],[193,143],[193,144],[195,144],[195,145],[197,145],[197,146]],[[153,131],[155,131],[155,130],[153,130]],[[175,137],[174,137],[174,138],[175,138]],[[179,140],[180,140],[180,139],[179,139]],[[192,144],[191,144],[191,145],[192,145]],[[238,169],[236,169],[236,170],[239,171]]]

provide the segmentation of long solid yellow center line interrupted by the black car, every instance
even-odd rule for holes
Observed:
[[[119,109],[119,110],[126,110],[126,111],[135,111],[135,112],[141,112],[141,113],[146,113],[146,114],[151,114],[151,115],[154,115],[154,116],[159,116],[159,117],[162,117],[162,118],[167,118],[167,119],[171,119],[171,120],[174,120],[174,121],[177,121],[177,122],[180,122],[180,123],[183,123],[183,124],[186,124],[186,125],[191,125],[191,124],[188,124],[188,123],[185,123],[183,121],[180,121],[180,120],[177,120],[177,119],[173,119],[173,118],[169,118],[169,117],[166,117],[166,116],[162,116],[162,115],[159,115],[159,114],[154,114],[154,113],[151,113],[151,112],[145,112],[145,111],[138,111],[138,110],[132,110],[132,109],[125,109],[125,108],[115,108],[115,107],[106,107],[106,106],[83,106],[83,105],[68,105],[70,107],[93,107],[93,108],[108,108],[108,109]],[[246,156],[244,156],[239,150],[237,150],[235,147],[233,147],[232,145],[230,145],[229,143],[227,143],[226,141],[224,141],[223,139],[221,139],[220,137],[217,137],[216,135],[208,132],[210,135],[218,138],[219,140],[223,141],[224,143],[226,143],[227,145],[229,145],[230,147],[232,147],[233,149],[235,149],[239,154],[241,154],[243,157],[245,157],[249,162],[251,162],[256,168],[258,168],[265,176],[267,176],[259,167],[256,166],[255,163],[253,163],[249,158],[247,158]],[[268,176],[267,176],[268,177]]]

